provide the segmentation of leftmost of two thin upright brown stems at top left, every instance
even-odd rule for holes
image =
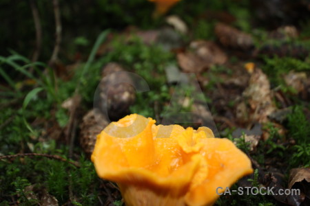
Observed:
[[[34,27],[36,29],[36,47],[35,47],[33,55],[32,55],[32,62],[36,62],[40,56],[40,51],[41,51],[42,28],[41,28],[41,21],[40,21],[38,8],[37,8],[37,5],[34,2],[34,0],[30,0],[30,7],[32,10]]]

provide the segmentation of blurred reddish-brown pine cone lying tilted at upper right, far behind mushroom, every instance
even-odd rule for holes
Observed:
[[[251,35],[245,34],[234,27],[225,25],[223,23],[217,23],[215,27],[215,33],[218,37],[218,41],[225,46],[232,49],[252,49],[254,47],[254,41]]]

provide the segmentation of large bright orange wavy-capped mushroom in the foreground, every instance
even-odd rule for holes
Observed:
[[[212,205],[216,188],[253,172],[247,155],[209,128],[156,126],[136,114],[98,135],[92,161],[99,177],[118,184],[127,206]]]

